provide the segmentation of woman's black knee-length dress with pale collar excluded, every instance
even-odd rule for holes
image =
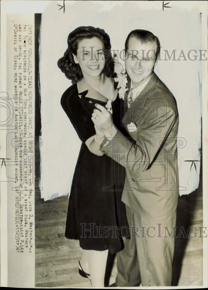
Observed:
[[[97,156],[88,150],[85,141],[95,135],[91,120],[94,105],[105,106],[106,102],[86,97],[87,93],[88,90],[78,93],[74,84],[61,98],[61,105],[82,141],[69,197],[65,236],[79,239],[82,249],[109,249],[116,253],[122,249],[121,236],[126,236],[128,229],[125,204],[121,201],[125,168],[107,155]],[[112,102],[112,110],[114,124],[123,131],[122,100],[118,96]]]

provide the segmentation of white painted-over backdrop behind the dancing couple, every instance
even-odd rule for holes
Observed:
[[[109,10],[104,7],[113,6]],[[134,29],[150,30],[160,40],[161,59],[165,52],[176,50],[176,59],[181,50],[187,58],[189,50],[201,48],[200,11],[197,8],[153,9],[146,1],[145,10],[140,1],[126,1],[116,5],[116,1],[92,3],[90,1],[67,2],[65,13],[58,12],[53,1],[42,14],[40,43],[40,93],[41,93],[41,197],[44,200],[70,193],[71,182],[81,141],[70,120],[60,105],[63,92],[71,85],[61,70],[57,60],[67,48],[68,34],[78,26],[103,28],[111,39],[112,49],[121,51],[127,35]],[[191,57],[194,59],[191,53]],[[177,100],[179,110],[179,184],[180,195],[188,194],[198,187],[200,162],[196,170],[191,162],[200,160],[201,146],[201,62],[191,60],[159,60],[156,74],[168,86]],[[122,62],[122,61],[121,61]],[[123,62],[122,62],[123,63]],[[124,63],[123,63],[124,64]],[[184,141],[185,139],[185,141]]]

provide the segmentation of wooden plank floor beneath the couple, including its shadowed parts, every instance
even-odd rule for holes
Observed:
[[[90,287],[87,278],[78,274],[82,250],[79,241],[64,237],[68,197],[44,202],[40,192],[35,195],[36,224],[36,287]],[[202,185],[186,196],[179,197],[177,229],[203,225]],[[194,231],[194,230],[193,230]],[[106,285],[115,281],[116,259],[109,256]],[[173,286],[203,284],[203,238],[176,238]]]

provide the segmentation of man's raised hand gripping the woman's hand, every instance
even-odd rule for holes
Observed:
[[[92,113],[92,122],[95,124],[99,131],[112,131],[112,114],[108,110],[106,110],[105,107],[99,104],[95,104],[95,107],[96,109],[94,109]]]

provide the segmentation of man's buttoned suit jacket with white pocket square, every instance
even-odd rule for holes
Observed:
[[[122,201],[147,218],[167,217],[179,195],[176,100],[153,72],[130,108],[126,95],[123,110],[130,137],[117,131],[100,150],[126,168]]]

